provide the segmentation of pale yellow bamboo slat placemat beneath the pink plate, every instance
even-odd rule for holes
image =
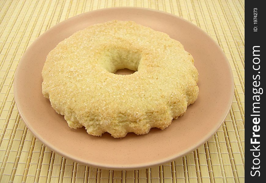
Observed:
[[[200,148],[171,163],[113,171],[79,165],[36,139],[20,119],[13,95],[17,64],[27,47],[55,24],[95,9],[136,6],[181,16],[224,50],[235,81],[230,113]],[[244,0],[0,0],[1,182],[244,182]]]

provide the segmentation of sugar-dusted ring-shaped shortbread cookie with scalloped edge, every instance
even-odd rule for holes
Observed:
[[[137,70],[130,75],[118,69]],[[91,135],[164,129],[198,97],[198,71],[183,45],[131,21],[95,24],[47,56],[42,93],[68,126]]]

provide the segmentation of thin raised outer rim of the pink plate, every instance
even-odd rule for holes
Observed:
[[[79,16],[82,16],[84,14],[90,14],[90,13],[93,13],[93,12],[101,12],[101,11],[105,11],[106,9],[142,9],[142,10],[145,10],[145,11],[153,11],[153,12],[156,12],[156,13],[167,14],[168,16],[173,16],[173,17],[175,17],[177,19],[181,19],[182,21],[185,21],[186,23],[190,24],[190,26],[194,27],[198,31],[201,31],[207,37],[209,37],[209,39],[212,40],[213,43],[215,43],[215,45],[219,49],[219,51],[223,53],[222,54],[223,57],[224,57],[223,59],[226,60],[225,63],[226,63],[227,67],[230,70],[229,73],[230,73],[230,78],[231,79],[228,82],[231,83],[230,84],[230,86],[231,86],[231,88],[230,88],[231,89],[230,101],[231,102],[228,102],[227,107],[226,107],[226,110],[223,111],[224,114],[225,114],[225,115],[223,115],[224,116],[223,120],[221,120],[219,123],[217,123],[216,127],[213,128],[212,131],[210,131],[209,133],[206,133],[206,135],[204,136],[205,138],[201,138],[201,140],[199,142],[197,142],[196,145],[189,146],[189,148],[183,150],[182,152],[176,153],[173,156],[168,156],[167,158],[160,159],[160,160],[156,160],[156,161],[153,161],[152,163],[134,164],[133,166],[131,166],[130,164],[127,164],[127,165],[117,165],[116,164],[115,166],[113,166],[113,165],[110,165],[110,164],[102,164],[102,163],[97,163],[97,162],[93,162],[93,161],[85,162],[83,160],[79,160],[76,157],[73,157],[73,156],[69,155],[66,152],[62,152],[62,151],[58,150],[56,147],[54,147],[49,142],[47,142],[45,139],[43,139],[41,136],[39,136],[38,132],[36,132],[34,130],[34,128],[31,128],[31,126],[28,124],[28,122],[26,120],[24,120],[25,117],[24,117],[24,114],[23,114],[23,107],[21,107],[20,101],[18,100],[19,97],[18,97],[18,92],[17,92],[17,83],[19,81],[18,81],[18,76],[17,76],[18,75],[17,74],[17,70],[20,69],[20,67],[22,65],[22,62],[26,58],[28,52],[30,52],[31,48],[34,47],[34,45],[39,41],[39,39],[41,39],[42,37],[44,37],[46,34],[49,34],[50,31],[52,31],[53,29],[55,29],[57,26],[60,26],[61,24],[65,24],[67,21],[72,20],[72,19],[75,19],[75,18],[77,18]],[[220,45],[216,41],[214,41],[212,39],[212,37],[209,34],[207,34],[204,30],[202,30],[197,25],[195,25],[195,24],[191,23],[190,21],[184,19],[183,17],[179,17],[179,16],[173,15],[171,13],[167,13],[167,12],[163,12],[163,11],[159,11],[159,10],[155,10],[155,9],[141,8],[141,7],[111,7],[111,8],[102,8],[102,9],[97,9],[97,10],[93,10],[93,11],[88,11],[88,12],[85,12],[85,13],[81,13],[81,14],[78,14],[78,15],[73,16],[71,18],[68,18],[66,20],[63,20],[60,23],[57,23],[56,25],[54,25],[53,27],[50,27],[44,33],[42,33],[41,35],[39,35],[39,37],[36,38],[31,43],[31,45],[23,53],[23,55],[22,55],[22,57],[21,57],[18,65],[17,65],[15,74],[14,74],[14,99],[15,99],[15,104],[17,105],[17,109],[18,109],[19,115],[20,115],[21,119],[24,121],[24,124],[26,125],[26,127],[31,131],[31,133],[37,139],[39,139],[45,146],[49,147],[52,151],[56,152],[57,154],[61,155],[62,157],[69,158],[71,160],[74,160],[75,162],[78,162],[80,164],[84,164],[84,165],[87,165],[87,166],[97,167],[97,168],[104,168],[104,169],[111,169],[111,170],[134,170],[134,169],[141,169],[141,168],[147,168],[147,167],[154,167],[154,166],[162,165],[164,163],[171,162],[171,161],[175,160],[178,157],[184,156],[187,153],[189,153],[191,151],[194,151],[195,149],[198,149],[198,147],[200,147],[202,144],[204,144],[205,142],[207,142],[209,140],[209,138],[211,138],[211,136],[214,135],[217,132],[217,130],[220,128],[220,126],[224,122],[227,114],[229,113],[229,111],[231,109],[231,105],[232,105],[232,102],[233,102],[233,96],[234,96],[234,78],[233,78],[233,73],[232,73],[232,69],[231,69],[230,63],[229,63],[227,57],[225,56],[225,53],[224,53],[223,49],[220,47]]]

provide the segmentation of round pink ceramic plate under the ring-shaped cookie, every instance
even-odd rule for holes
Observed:
[[[165,130],[113,138],[70,129],[42,95],[41,71],[47,54],[77,30],[109,20],[133,20],[180,41],[195,59],[199,96],[183,117]],[[42,34],[17,67],[14,92],[20,116],[29,130],[58,154],[106,169],[140,169],[175,160],[205,143],[220,127],[233,98],[231,67],[219,45],[203,30],[177,16],[142,8],[109,8],[65,20]]]

